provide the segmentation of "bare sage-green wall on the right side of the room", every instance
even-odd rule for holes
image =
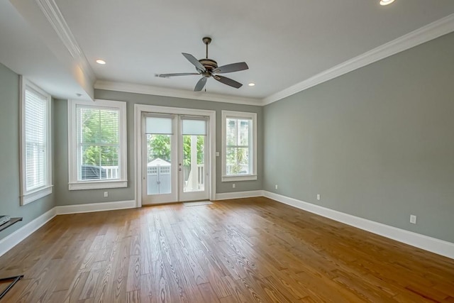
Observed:
[[[264,189],[454,242],[453,54],[451,33],[265,106]]]

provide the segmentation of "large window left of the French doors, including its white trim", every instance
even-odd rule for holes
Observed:
[[[127,187],[126,102],[68,101],[70,190]]]

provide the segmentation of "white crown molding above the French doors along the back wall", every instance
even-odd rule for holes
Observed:
[[[125,82],[111,82],[97,80],[94,83],[95,89],[106,89],[117,92],[132,92],[136,94],[152,94],[165,97],[176,97],[184,99],[196,99],[204,101],[226,102],[233,104],[245,104],[261,106],[261,99],[226,96],[221,94],[209,94],[204,92],[189,92],[182,89],[169,89],[165,87],[153,87],[151,85],[133,84]]]

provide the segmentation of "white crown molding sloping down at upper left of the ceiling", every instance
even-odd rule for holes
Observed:
[[[50,23],[50,26],[57,33],[58,37],[62,41],[65,48],[68,50],[70,55],[74,58],[77,65],[82,69],[84,75],[92,79],[92,82],[95,81],[96,76],[92,70],[92,67],[89,65],[87,57],[85,57],[82,48],[80,48],[79,43],[77,43],[76,38],[72,34],[70,26],[67,25],[65,18],[62,15],[62,12],[58,8],[54,0],[35,0],[36,4],[40,7],[46,19]]]

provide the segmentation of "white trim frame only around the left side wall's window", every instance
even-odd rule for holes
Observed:
[[[21,82],[21,122],[20,122],[20,130],[21,130],[21,145],[20,145],[20,153],[21,153],[21,205],[26,205],[33,201],[36,201],[42,197],[47,196],[48,194],[52,194],[52,97],[47,92],[44,92],[43,89],[40,89],[32,82],[28,81],[24,77],[20,77]],[[26,189],[26,89],[32,89],[38,94],[43,95],[46,98],[46,164],[47,164],[47,182],[43,187],[39,187],[33,190],[27,191]]]

